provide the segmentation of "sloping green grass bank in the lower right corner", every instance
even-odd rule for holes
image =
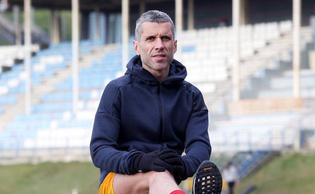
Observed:
[[[315,154],[277,157],[237,185],[236,193],[250,184],[256,185],[252,194],[315,194]]]

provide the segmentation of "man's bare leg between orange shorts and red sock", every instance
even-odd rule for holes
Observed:
[[[180,189],[168,171],[116,174],[113,187],[115,194],[169,194]]]

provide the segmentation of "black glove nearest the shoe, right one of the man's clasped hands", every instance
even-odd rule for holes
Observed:
[[[177,184],[181,183],[183,178],[185,177],[185,163],[177,152],[171,149],[161,150],[157,153],[160,159],[162,159],[167,164],[172,166],[172,169],[169,170],[176,181]]]

